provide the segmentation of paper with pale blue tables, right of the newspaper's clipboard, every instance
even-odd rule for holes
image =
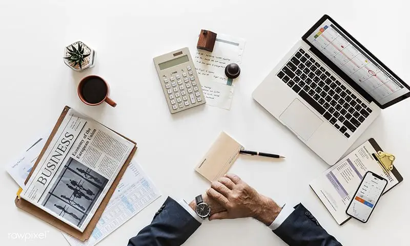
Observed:
[[[132,160],[91,237],[82,242],[66,233],[63,235],[71,246],[94,246],[160,196],[141,166]]]

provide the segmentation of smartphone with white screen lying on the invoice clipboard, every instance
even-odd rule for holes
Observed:
[[[367,171],[346,209],[346,214],[363,223],[367,222],[386,186],[385,178]]]

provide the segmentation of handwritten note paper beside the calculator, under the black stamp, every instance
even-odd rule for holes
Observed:
[[[212,52],[195,48],[195,69],[208,105],[231,108],[234,87],[228,82],[225,67],[241,63],[244,46],[245,40],[241,38],[218,34]]]

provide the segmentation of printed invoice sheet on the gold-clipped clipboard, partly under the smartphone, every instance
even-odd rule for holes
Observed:
[[[346,214],[347,206],[367,171],[372,171],[388,181],[384,192],[403,180],[396,168],[386,173],[378,164],[373,153],[379,150],[381,149],[376,141],[370,139],[310,183],[339,225],[350,219]]]

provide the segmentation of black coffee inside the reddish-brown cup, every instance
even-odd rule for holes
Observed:
[[[83,82],[81,95],[88,103],[95,104],[103,101],[107,96],[107,84],[97,77],[90,77]]]

